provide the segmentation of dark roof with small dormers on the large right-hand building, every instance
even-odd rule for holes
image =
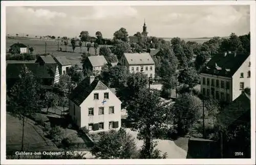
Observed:
[[[210,75],[217,75],[217,76],[225,76],[225,77],[232,77],[234,73],[237,72],[239,67],[244,63],[244,61],[249,57],[245,54],[237,54],[236,56],[234,53],[227,53],[224,56],[224,53],[216,54],[213,56],[207,65],[202,69],[201,73],[210,74]],[[219,70],[217,70],[217,67]],[[208,67],[208,68],[207,68]],[[214,73],[217,70],[216,73]]]

